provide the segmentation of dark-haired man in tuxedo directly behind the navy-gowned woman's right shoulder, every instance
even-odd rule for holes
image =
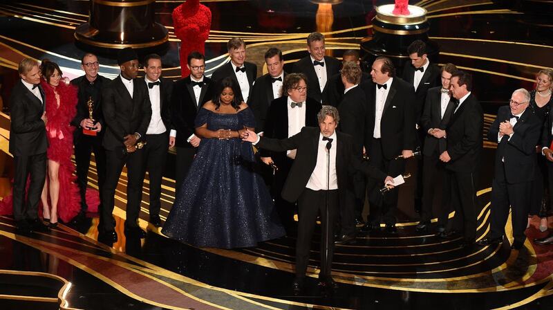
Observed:
[[[278,48],[269,48],[265,53],[265,64],[269,73],[255,80],[252,94],[247,105],[252,108],[256,121],[256,130],[265,128],[265,117],[272,100],[281,98],[283,95],[282,84],[287,73],[284,72],[284,60],[282,51]]]

